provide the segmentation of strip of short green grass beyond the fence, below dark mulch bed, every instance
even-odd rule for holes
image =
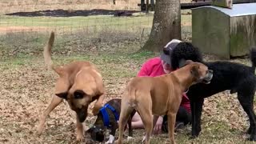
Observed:
[[[114,16],[88,16],[88,17],[17,17],[1,16],[0,26],[35,26],[42,28],[71,28],[73,30],[87,28],[94,30],[133,30],[138,27],[150,28],[152,16],[138,16],[118,18]]]

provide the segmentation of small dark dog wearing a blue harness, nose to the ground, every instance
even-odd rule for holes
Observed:
[[[114,98],[111,99],[109,102],[106,102],[105,106],[102,106],[100,112],[98,113],[98,118],[94,122],[94,126],[92,126],[87,132],[90,133],[90,136],[94,141],[102,142],[104,140],[104,131],[106,127],[109,128],[110,131],[110,138],[107,143],[114,142],[114,135],[116,130],[118,129],[118,120],[119,114],[121,110],[121,99]],[[133,137],[133,132],[131,128],[131,118],[135,114],[135,110],[130,114],[128,119],[128,126],[129,126],[129,137]]]

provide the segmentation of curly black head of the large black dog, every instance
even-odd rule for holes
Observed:
[[[172,69],[176,70],[182,60],[192,60],[202,62],[202,54],[197,47],[190,42],[180,42],[170,53],[170,63]]]

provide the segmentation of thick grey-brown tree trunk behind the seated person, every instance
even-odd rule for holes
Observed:
[[[171,39],[181,39],[180,0],[156,0],[150,38],[142,50],[158,52]]]

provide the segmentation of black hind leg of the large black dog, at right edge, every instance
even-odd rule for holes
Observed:
[[[238,101],[242,105],[243,110],[245,110],[246,114],[250,118],[250,127],[248,129],[248,133],[250,134],[250,141],[256,141],[256,116],[254,114],[254,94],[248,94],[249,91],[246,92],[238,91]]]

